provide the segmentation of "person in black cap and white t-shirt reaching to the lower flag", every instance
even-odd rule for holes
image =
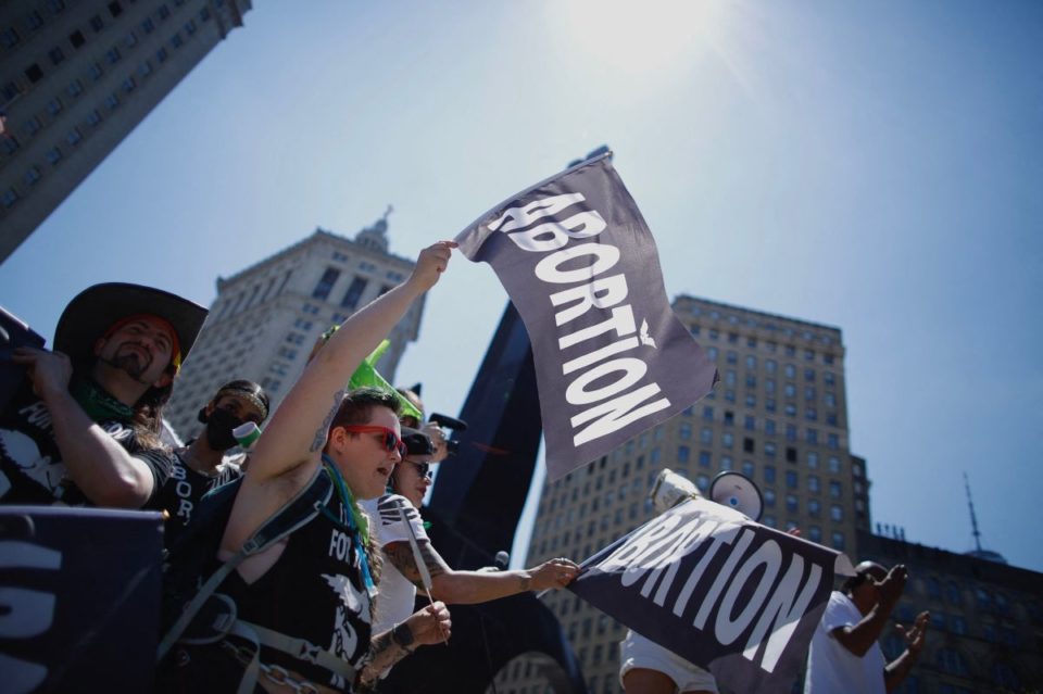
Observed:
[[[419,514],[424,495],[431,485],[437,445],[425,431],[407,427],[402,428],[402,439],[407,454],[391,472],[389,493],[379,500],[363,502],[374,519],[375,542],[385,560],[375,631],[390,629],[409,616],[417,590],[449,605],[470,605],[526,591],[562,589],[576,578],[579,566],[565,558],[512,571],[450,568],[431,544]],[[423,571],[417,556],[424,564]],[[381,677],[387,677],[390,669]]]

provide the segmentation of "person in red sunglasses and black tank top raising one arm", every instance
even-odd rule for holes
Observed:
[[[334,493],[312,520],[249,556],[223,592],[237,607],[236,633],[186,646],[176,678],[187,691],[356,691],[419,645],[450,635],[441,603],[380,634],[373,631],[378,558],[355,500],[379,496],[401,460],[397,395],[347,393],[343,383],[444,272],[455,243],[425,249],[410,278],[353,314],[286,395],[251,455],[219,560],[235,555],[286,502],[327,475]],[[256,668],[249,655],[260,643]],[[260,671],[260,677],[259,677]]]

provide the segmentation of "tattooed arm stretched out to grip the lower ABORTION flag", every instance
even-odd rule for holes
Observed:
[[[454,571],[430,542],[422,540],[418,546],[424,564],[431,575],[433,596],[450,605],[473,605],[526,591],[563,588],[576,578],[579,571],[579,567],[568,559],[552,559],[531,569],[515,571]],[[409,542],[388,543],[384,545],[384,554],[402,576],[417,589],[424,590],[420,571],[416,567],[413,547]]]

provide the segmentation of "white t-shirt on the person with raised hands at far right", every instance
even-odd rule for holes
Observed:
[[[833,591],[822,613],[822,619],[812,636],[807,654],[807,677],[804,694],[884,694],[883,669],[888,661],[880,644],[875,643],[863,657],[857,657],[832,635],[834,629],[854,627],[862,621],[850,597]]]

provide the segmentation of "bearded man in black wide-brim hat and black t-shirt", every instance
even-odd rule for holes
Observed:
[[[162,411],[206,310],[139,285],[86,289],[54,351],[18,348],[26,383],[0,413],[0,503],[150,505],[171,472]]]

